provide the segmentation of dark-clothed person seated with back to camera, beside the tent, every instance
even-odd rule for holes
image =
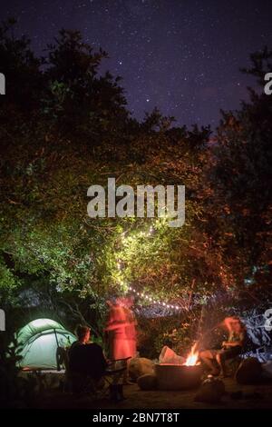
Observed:
[[[99,382],[107,366],[102,347],[90,342],[90,328],[78,325],[76,328],[78,341],[69,350],[69,371],[88,375]]]

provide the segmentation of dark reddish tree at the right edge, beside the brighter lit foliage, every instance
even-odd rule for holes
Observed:
[[[257,298],[267,297],[271,274],[272,98],[263,92],[264,75],[271,71],[272,54],[265,48],[251,55],[258,93],[238,112],[223,114],[215,147],[218,214],[224,223],[226,256],[238,283]],[[245,282],[246,279],[246,282]],[[265,293],[260,293],[260,288]]]

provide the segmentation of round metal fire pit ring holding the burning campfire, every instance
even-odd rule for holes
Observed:
[[[161,363],[155,365],[155,372],[159,390],[185,390],[199,386],[202,367]]]

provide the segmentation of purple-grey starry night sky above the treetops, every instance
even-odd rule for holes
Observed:
[[[81,30],[110,55],[103,69],[121,75],[134,116],[157,106],[177,124],[214,128],[254,85],[239,72],[248,55],[272,47],[271,0],[8,0],[8,16],[41,55],[60,28]]]

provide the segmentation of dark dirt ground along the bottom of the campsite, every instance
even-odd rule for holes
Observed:
[[[224,382],[226,395],[219,404],[195,402],[197,390],[144,392],[137,384],[133,384],[123,387],[126,399],[118,403],[111,402],[109,398],[93,400],[88,395],[74,397],[69,393],[47,391],[36,406],[41,409],[272,409],[272,381],[256,385],[238,385],[233,379]],[[230,393],[238,391],[243,393],[243,398],[233,400]]]

